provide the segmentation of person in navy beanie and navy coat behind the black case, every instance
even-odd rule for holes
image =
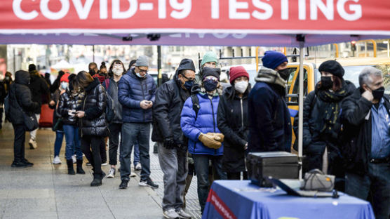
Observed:
[[[248,97],[248,152],[290,152],[290,112],[284,100],[288,60],[283,53],[267,51],[262,62]]]

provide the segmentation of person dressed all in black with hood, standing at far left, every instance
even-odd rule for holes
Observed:
[[[31,91],[28,87],[30,81],[29,72],[19,70],[15,72],[15,82],[11,84],[9,89],[10,119],[13,131],[13,162],[12,167],[33,166],[25,158],[25,133],[26,126],[23,120],[23,112],[28,115],[33,115],[39,108],[39,103],[32,100]]]

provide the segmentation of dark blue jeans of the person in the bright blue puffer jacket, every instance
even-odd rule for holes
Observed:
[[[226,175],[222,172],[222,156],[212,156],[208,154],[192,154],[194,159],[196,178],[198,179],[198,199],[201,205],[201,211],[206,205],[208,197],[208,164],[211,161],[215,170],[214,180],[226,180]]]

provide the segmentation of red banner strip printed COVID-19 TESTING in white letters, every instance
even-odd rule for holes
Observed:
[[[390,34],[382,0],[8,0],[2,33]]]

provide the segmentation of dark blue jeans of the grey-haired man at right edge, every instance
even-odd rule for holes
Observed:
[[[359,199],[368,199],[372,194],[372,208],[377,219],[390,218],[390,164],[372,164],[368,162],[368,173],[345,174],[345,192]]]

